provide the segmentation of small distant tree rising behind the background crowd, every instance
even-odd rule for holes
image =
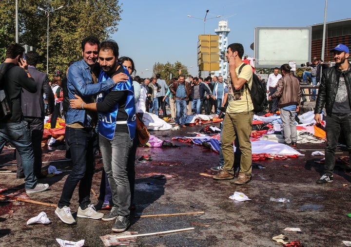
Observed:
[[[164,79],[167,84],[171,78],[177,78],[180,74],[185,77],[189,76],[187,67],[179,61],[176,61],[174,64],[170,62],[165,64],[159,62],[155,63],[153,66],[153,77],[155,77],[156,74],[160,74],[161,78]]]

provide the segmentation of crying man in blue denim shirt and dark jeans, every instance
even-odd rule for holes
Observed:
[[[94,73],[98,60],[99,44],[97,38],[87,37],[81,43],[83,59],[72,64],[68,70],[68,94],[70,99],[79,95],[85,102],[96,101],[96,94],[112,88],[119,81],[126,81],[125,74],[114,76],[104,82],[97,83],[98,73]],[[68,175],[62,189],[61,198],[55,214],[66,224],[74,224],[70,200],[79,182],[79,208],[77,217],[100,219],[103,213],[98,213],[90,205],[90,190],[95,167],[95,151],[98,147],[98,134],[95,131],[98,115],[94,111],[70,108],[66,117],[66,145],[72,154],[72,171]]]

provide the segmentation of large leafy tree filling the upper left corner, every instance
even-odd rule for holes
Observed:
[[[49,76],[65,74],[71,60],[81,59],[80,42],[94,35],[100,40],[117,31],[121,5],[118,0],[19,0],[19,41],[36,48],[38,68],[46,71],[47,14],[49,14]],[[15,41],[15,0],[0,0],[0,52]],[[1,53],[3,56],[3,53]],[[2,58],[2,57],[1,57]]]

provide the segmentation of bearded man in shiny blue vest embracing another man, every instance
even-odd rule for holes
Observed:
[[[101,73],[98,82],[108,80],[119,73],[129,75],[118,63],[118,45],[114,40],[101,42],[98,61]],[[72,108],[98,111],[99,146],[104,169],[112,191],[114,207],[103,221],[116,220],[113,231],[125,231],[129,225],[130,188],[127,161],[136,134],[136,110],[134,89],[129,76],[127,82],[117,83],[109,91],[98,95],[97,103],[85,104],[79,97],[70,101]]]

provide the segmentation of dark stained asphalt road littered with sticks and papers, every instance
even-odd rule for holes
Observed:
[[[179,131],[153,131],[162,140],[173,136],[189,136],[201,129],[188,127]],[[137,158],[151,155],[152,161],[136,161],[136,210],[132,211],[130,231],[139,234],[192,228],[193,230],[156,236],[138,237],[131,246],[140,247],[278,247],[272,238],[284,234],[287,242],[298,240],[304,247],[343,246],[343,240],[351,241],[350,169],[338,164],[332,183],[317,185],[316,180],[323,165],[315,163],[321,156],[312,156],[315,150],[322,151],[324,144],[298,144],[297,149],[305,156],[285,160],[254,162],[253,179],[246,185],[234,185],[234,180],[215,181],[210,170],[218,164],[218,154],[202,146],[172,141],[178,147],[138,148]],[[44,148],[43,168],[54,165],[63,174],[41,179],[49,183],[50,190],[31,194],[31,200],[57,204],[61,189],[71,170],[70,161],[64,159],[65,151]],[[336,156],[347,155],[337,149]],[[99,193],[102,162],[96,160],[97,172],[93,178],[91,200]],[[14,151],[4,149],[0,164],[16,163]],[[258,165],[264,167],[259,169]],[[23,179],[16,174],[1,174],[16,171],[15,165],[0,167],[0,194],[12,193],[25,196]],[[163,174],[157,178],[148,173]],[[165,178],[165,179],[164,179]],[[243,192],[252,201],[239,202],[229,196]],[[270,202],[270,197],[287,198],[289,203]],[[76,217],[78,190],[71,200],[71,211]],[[49,225],[26,225],[29,218],[46,212]],[[112,234],[113,221],[77,219],[77,225],[63,224],[54,213],[55,208],[18,201],[0,202],[0,246],[59,246],[56,238],[78,241],[85,246],[103,246],[99,236]],[[106,210],[101,210],[108,213]],[[170,214],[204,211],[203,214],[147,217],[137,215]],[[300,228],[300,232],[285,228]]]

